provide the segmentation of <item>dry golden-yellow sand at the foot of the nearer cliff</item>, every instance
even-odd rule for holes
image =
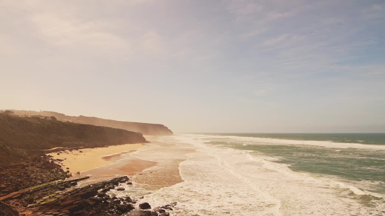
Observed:
[[[66,150],[61,151],[62,153],[60,153],[60,155],[57,155],[56,152],[48,155],[53,156],[54,159],[64,160],[61,162],[63,163],[62,166],[64,170],[67,170],[66,168],[68,167],[71,173],[82,173],[84,171],[115,163],[119,160],[119,157],[113,156],[115,154],[121,155],[122,153],[129,153],[130,151],[134,151],[142,147],[144,147],[142,144],[126,144],[108,146],[106,148],[84,148],[73,151]],[[146,167],[150,165],[152,164],[146,164]]]

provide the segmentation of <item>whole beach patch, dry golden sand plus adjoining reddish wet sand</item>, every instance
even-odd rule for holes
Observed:
[[[91,174],[90,172],[86,173],[85,171],[91,171],[96,168],[97,171],[92,171],[92,174],[130,174],[154,166],[156,162],[140,160],[135,157],[127,158],[131,160],[126,161],[126,166],[122,166],[121,162],[119,162],[119,166],[122,167],[116,168],[118,171],[121,171],[121,173],[117,173],[117,171],[114,173],[110,168],[103,167],[120,160],[121,155],[142,147],[144,147],[143,144],[126,144],[109,146],[106,148],[84,148],[73,150],[72,152],[67,150],[67,153],[62,151],[60,155],[57,155],[57,153],[50,153],[48,155],[52,155],[54,159],[65,159],[61,162],[63,163],[63,169],[67,170],[66,168],[68,167],[71,173],[80,172],[82,174]]]

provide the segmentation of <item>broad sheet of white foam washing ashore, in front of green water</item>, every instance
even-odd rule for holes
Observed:
[[[179,164],[184,182],[156,191],[143,201],[155,206],[176,201],[176,215],[375,215],[384,207],[383,203],[378,208],[363,206],[347,196],[348,191],[380,194],[332,178],[294,172],[288,164],[273,162],[280,159],[208,145],[197,135],[174,138],[181,141],[177,146],[196,150]]]

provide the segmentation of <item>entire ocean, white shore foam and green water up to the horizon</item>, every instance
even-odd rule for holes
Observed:
[[[385,215],[385,134],[147,136],[129,193],[178,216]],[[154,207],[155,207],[154,206]]]

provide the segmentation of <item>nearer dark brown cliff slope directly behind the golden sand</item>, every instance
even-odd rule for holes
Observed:
[[[35,150],[146,143],[141,133],[0,114],[0,164],[20,162]]]

